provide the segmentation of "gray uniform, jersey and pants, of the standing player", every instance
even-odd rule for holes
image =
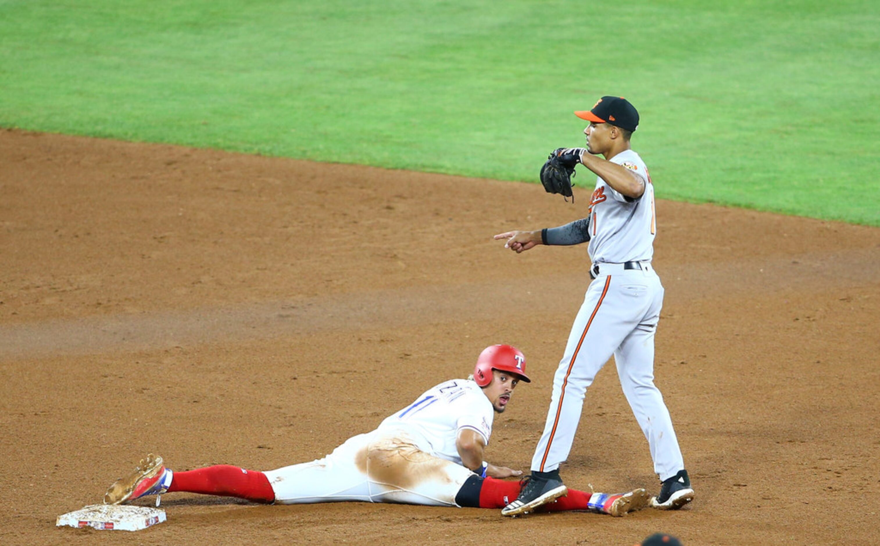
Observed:
[[[685,465],[669,410],[654,385],[654,335],[664,296],[651,266],[656,233],[654,188],[648,169],[634,151],[622,151],[610,160],[641,176],[645,191],[638,199],[628,199],[597,178],[590,199],[593,281],[554,375],[550,409],[532,470],[548,472],[568,459],[587,387],[613,354],[620,386],[648,439],[654,470],[665,480]],[[587,240],[583,225],[580,221],[548,230],[546,243],[581,243]]]

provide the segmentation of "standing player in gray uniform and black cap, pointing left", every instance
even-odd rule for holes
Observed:
[[[559,466],[568,459],[587,387],[612,354],[620,386],[648,439],[654,471],[662,481],[650,503],[662,510],[677,509],[693,500],[693,489],[669,410],[654,385],[654,335],[664,288],[651,266],[654,188],[642,158],[630,149],[639,114],[622,97],[602,97],[590,111],[575,114],[590,122],[583,130],[587,147],[557,149],[541,177],[553,191],[546,173],[559,165],[570,173],[580,163],[596,173],[588,217],[550,229],[495,235],[517,253],[542,244],[589,241],[593,279],[554,376],[544,433],[532,458],[532,479],[502,514],[528,512],[566,494]],[[568,190],[571,195],[568,177],[562,186],[560,193]]]

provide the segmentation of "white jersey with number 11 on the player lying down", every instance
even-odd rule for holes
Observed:
[[[488,446],[494,417],[492,402],[473,380],[449,380],[429,388],[415,402],[386,418],[378,431],[406,432],[425,453],[461,464],[455,446],[458,431],[473,429]]]

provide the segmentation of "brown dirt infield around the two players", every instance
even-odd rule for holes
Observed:
[[[491,343],[523,350],[533,381],[489,460],[527,470],[588,256],[491,237],[579,218],[587,193],[12,130],[0,166],[0,543],[880,540],[880,230],[665,201],[656,382],[685,510],[173,494],[137,535],[55,528],[150,451],[172,469],[323,456]],[[613,366],[584,408],[567,483],[656,492]]]

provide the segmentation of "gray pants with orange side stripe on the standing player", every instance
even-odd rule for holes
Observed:
[[[643,268],[599,264],[554,376],[532,470],[554,470],[568,459],[587,387],[612,354],[620,386],[648,439],[654,471],[664,480],[685,468],[669,410],[654,386],[654,335],[664,288],[648,263]]]

